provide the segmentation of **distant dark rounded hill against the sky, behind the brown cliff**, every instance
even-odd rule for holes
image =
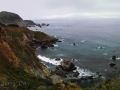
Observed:
[[[23,20],[18,14],[2,11],[0,12],[0,22],[3,24],[17,24],[20,27],[28,27],[35,25],[31,20]]]

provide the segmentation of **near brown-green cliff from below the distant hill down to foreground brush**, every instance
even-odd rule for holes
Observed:
[[[49,71],[29,45],[32,40],[44,39],[51,40],[52,37],[27,28],[0,26],[0,90],[14,88],[13,84],[6,85],[5,82],[16,83],[17,88],[24,90],[40,85],[53,87],[52,81],[48,79]],[[19,81],[28,82],[29,85],[19,86]]]

